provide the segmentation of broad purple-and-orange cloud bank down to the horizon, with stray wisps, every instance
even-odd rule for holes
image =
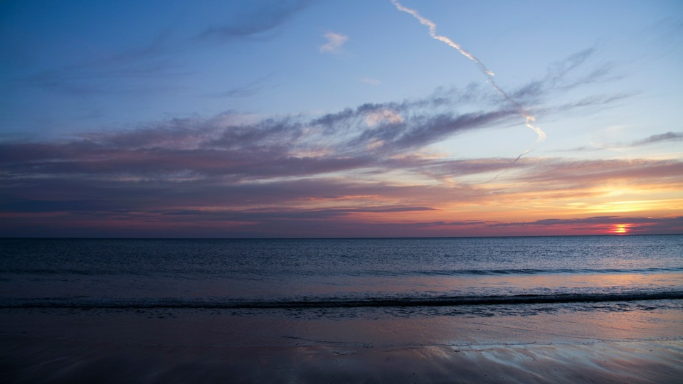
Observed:
[[[580,86],[557,79],[567,79],[589,57],[568,58],[539,84],[522,86],[522,94],[552,100],[562,86]],[[247,96],[260,81],[224,96]],[[538,109],[552,114],[615,100],[620,95],[541,103]],[[60,141],[0,142],[0,220],[11,223],[0,235],[507,234],[525,228],[521,223],[578,228],[598,225],[598,219],[525,221],[477,212],[510,214],[508,206],[566,206],[582,199],[608,206],[605,201],[614,199],[605,196],[618,188],[683,188],[677,160],[432,155],[433,144],[445,139],[510,124],[521,124],[517,111],[472,84],[316,117],[224,113]],[[633,145],[679,139],[680,133],[667,132]],[[502,171],[504,177],[492,179]],[[469,213],[460,218],[461,211]],[[642,225],[666,232],[655,223]]]

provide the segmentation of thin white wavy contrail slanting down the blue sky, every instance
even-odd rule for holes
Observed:
[[[422,24],[423,26],[427,26],[427,28],[429,28],[429,36],[432,36],[432,38],[434,38],[438,41],[441,41],[442,43],[448,44],[448,46],[457,49],[458,52],[462,53],[462,55],[465,55],[466,58],[474,61],[477,64],[477,67],[479,67],[479,69],[482,71],[482,73],[487,77],[489,84],[491,84],[491,86],[494,88],[494,90],[496,90],[502,97],[504,97],[505,100],[507,100],[507,102],[509,102],[510,105],[512,105],[514,107],[514,109],[517,110],[517,112],[519,112],[519,114],[521,114],[522,117],[524,117],[524,119],[525,119],[524,125],[526,125],[526,127],[534,129],[534,132],[536,132],[536,135],[538,135],[538,137],[536,137],[536,142],[542,142],[546,139],[546,132],[543,132],[543,129],[536,127],[534,124],[531,124],[531,123],[536,121],[536,118],[534,116],[532,116],[529,112],[526,112],[526,110],[524,110],[524,108],[521,107],[521,105],[519,105],[519,103],[512,100],[512,97],[510,97],[507,94],[507,92],[502,90],[496,84],[496,82],[493,80],[493,77],[495,76],[495,74],[491,70],[489,70],[489,68],[486,68],[486,65],[484,65],[484,63],[482,63],[482,60],[479,60],[478,58],[476,58],[475,55],[472,55],[472,53],[467,52],[467,50],[463,49],[462,46],[460,46],[460,44],[455,43],[455,41],[452,41],[450,38],[448,38],[446,36],[437,35],[436,34],[436,24],[433,21],[431,21],[430,19],[424,18],[422,15],[418,14],[418,11],[415,11],[415,9],[406,8],[405,6],[402,6],[396,0],[391,0],[391,4],[396,6],[396,9],[398,9],[399,11],[403,11],[403,12],[406,12],[407,14],[413,15],[413,17],[417,18],[418,21],[420,21],[420,24]],[[524,154],[526,154],[526,152],[524,152]],[[524,155],[524,154],[522,154],[522,155]],[[521,155],[519,155],[519,157],[521,157]],[[519,157],[517,157],[517,159],[515,159],[515,162],[517,162],[517,160],[519,160]]]

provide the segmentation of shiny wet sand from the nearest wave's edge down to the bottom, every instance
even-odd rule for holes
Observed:
[[[534,316],[0,310],[3,383],[678,383],[679,309]]]

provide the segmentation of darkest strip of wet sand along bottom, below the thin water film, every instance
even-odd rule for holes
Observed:
[[[3,334],[6,383],[677,383],[683,338],[380,347],[164,346]]]

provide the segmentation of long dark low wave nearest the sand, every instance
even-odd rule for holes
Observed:
[[[625,292],[610,294],[518,294],[503,296],[368,297],[364,299],[233,300],[216,299],[88,299],[79,297],[7,299],[0,308],[71,309],[307,309],[411,306],[487,306],[498,304],[561,304],[632,302],[683,299],[683,291]]]

